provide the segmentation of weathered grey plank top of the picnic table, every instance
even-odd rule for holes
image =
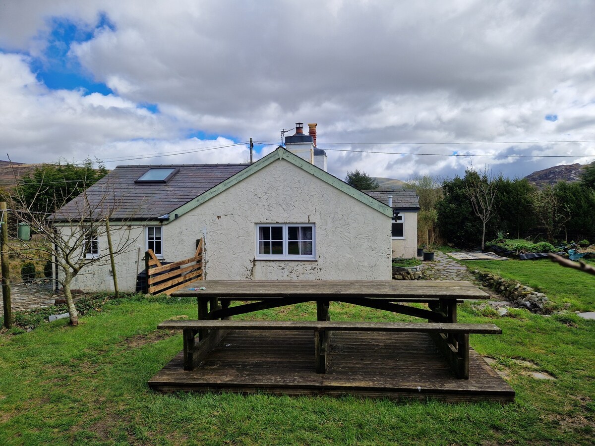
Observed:
[[[189,290],[188,288],[206,288]],[[172,294],[178,297],[245,297],[255,300],[308,297],[341,300],[374,299],[489,299],[471,282],[459,280],[205,280]]]

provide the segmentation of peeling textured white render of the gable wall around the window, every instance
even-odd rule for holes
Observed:
[[[255,260],[256,223],[314,223],[317,260]],[[165,257],[204,237],[208,279],[390,279],[390,217],[280,159],[164,226]]]

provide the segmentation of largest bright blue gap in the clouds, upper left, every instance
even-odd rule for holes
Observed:
[[[115,30],[107,15],[99,15],[95,26],[77,24],[65,17],[52,18],[49,26],[51,31],[42,56],[33,58],[30,64],[37,79],[52,90],[84,89],[87,95],[112,94],[112,90],[106,84],[93,80],[92,74],[84,70],[79,60],[70,54],[74,43],[87,42],[93,38],[96,31],[106,28]]]

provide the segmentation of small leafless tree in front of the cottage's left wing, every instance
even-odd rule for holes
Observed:
[[[27,201],[18,188],[15,191],[12,199],[14,212],[18,213],[21,222],[29,224],[32,231],[43,239],[42,242],[33,238],[23,242],[25,246],[15,254],[31,260],[52,262],[54,271],[58,273],[55,275],[56,280],[64,290],[70,323],[77,325],[79,313],[71,291],[74,277],[89,265],[114,265],[113,257],[129,250],[138,236],[131,237],[130,226],[122,219],[110,227],[109,221],[120,202],[107,177],[93,186],[91,195],[89,189],[84,189],[76,197],[68,197],[71,198],[68,205],[57,211],[51,208],[46,208],[45,212],[39,211],[37,199],[46,190],[46,185],[40,184],[33,200]],[[114,237],[117,233],[118,236]],[[112,246],[110,249],[100,249],[99,240],[108,235]],[[114,238],[115,243],[112,243]]]

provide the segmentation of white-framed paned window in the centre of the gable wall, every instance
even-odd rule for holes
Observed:
[[[256,224],[256,260],[316,260],[314,224]]]

